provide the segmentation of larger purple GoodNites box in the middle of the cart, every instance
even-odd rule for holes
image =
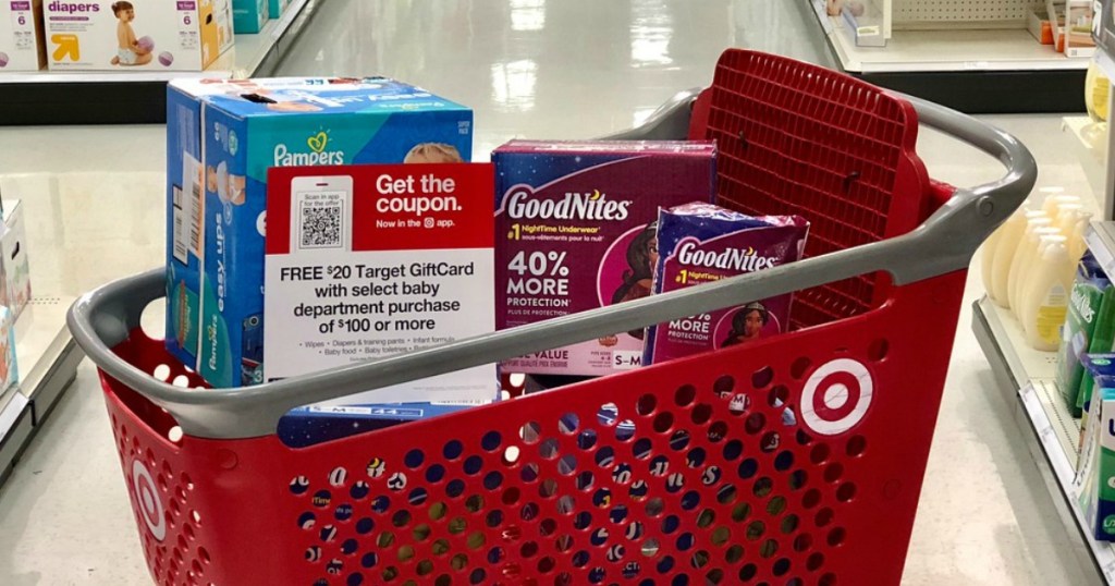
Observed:
[[[496,327],[650,295],[659,208],[716,193],[712,142],[512,141],[496,169]],[[642,364],[643,332],[503,363],[506,372],[600,376]]]

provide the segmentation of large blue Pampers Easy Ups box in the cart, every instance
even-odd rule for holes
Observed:
[[[166,346],[215,387],[262,382],[268,169],[472,158],[471,109],[391,79],[167,92]]]

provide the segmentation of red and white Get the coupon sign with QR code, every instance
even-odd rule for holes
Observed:
[[[264,378],[495,329],[493,171],[446,163],[268,172]],[[495,365],[330,405],[491,401]]]

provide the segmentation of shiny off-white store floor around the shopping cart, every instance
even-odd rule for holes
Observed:
[[[795,4],[795,7],[786,6]],[[821,60],[796,2],[767,0],[329,0],[290,75],[382,74],[476,111],[477,160],[516,137],[592,137],[707,85],[743,46]],[[808,16],[812,18],[812,16]],[[1090,193],[1059,116],[998,116],[1039,186]],[[78,295],[163,260],[162,127],[0,129],[0,191],[28,204],[36,289]],[[924,132],[934,177],[996,179],[990,157]],[[906,563],[909,585],[1078,585],[1065,529],[971,334],[973,267]],[[149,584],[96,373],[77,382],[0,486],[0,585]],[[864,559],[864,564],[872,560]]]

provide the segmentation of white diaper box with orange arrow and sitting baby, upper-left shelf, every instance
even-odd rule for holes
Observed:
[[[226,0],[49,0],[52,70],[200,71],[232,47]]]

